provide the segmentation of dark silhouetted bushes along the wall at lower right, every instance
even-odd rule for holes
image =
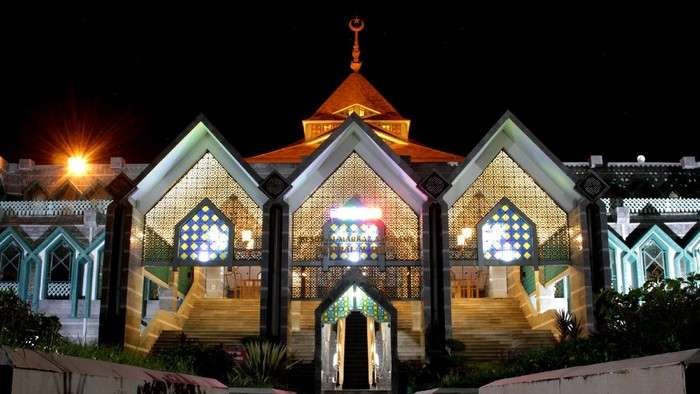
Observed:
[[[480,387],[494,380],[700,347],[700,275],[649,281],[596,298],[597,332],[582,337],[576,316],[559,313],[561,340],[490,363],[452,355],[439,365],[401,364],[402,387]]]

